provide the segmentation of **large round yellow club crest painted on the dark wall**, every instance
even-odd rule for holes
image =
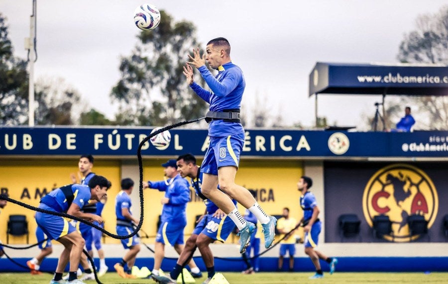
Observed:
[[[364,189],[362,209],[370,227],[375,215],[389,216],[393,237],[384,235],[385,239],[408,242],[419,237],[410,235],[408,216],[425,216],[430,228],[439,210],[439,198],[433,181],[424,171],[409,164],[392,164],[370,178]]]

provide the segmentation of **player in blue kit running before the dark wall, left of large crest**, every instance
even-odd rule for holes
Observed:
[[[299,224],[302,223],[303,230],[305,231],[303,243],[305,246],[305,253],[311,258],[311,261],[316,267],[316,274],[311,276],[310,279],[319,279],[324,277],[319,259],[326,261],[330,265],[330,274],[335,272],[337,259],[327,257],[314,249],[318,245],[322,222],[318,218],[320,210],[317,206],[316,197],[309,191],[312,185],[313,180],[307,176],[302,176],[297,183],[297,188],[302,193],[302,196],[300,197],[300,207],[303,209],[303,218],[300,220]]]

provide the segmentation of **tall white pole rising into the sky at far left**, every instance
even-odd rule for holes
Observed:
[[[28,125],[34,126],[34,62],[36,52],[36,1],[33,0],[33,12],[30,16],[29,38],[25,38],[25,50],[28,51],[29,87],[28,87]]]

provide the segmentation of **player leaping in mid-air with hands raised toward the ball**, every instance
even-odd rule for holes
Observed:
[[[274,241],[276,218],[267,215],[244,187],[235,184],[239,155],[244,144],[244,129],[240,122],[239,109],[245,88],[241,69],[230,59],[230,44],[225,38],[216,38],[207,43],[206,54],[200,55],[199,47],[193,49],[193,56],[184,67],[184,75],[190,87],[204,101],[210,104],[206,121],[209,122],[210,144],[201,165],[204,173],[202,192],[224,211],[239,229],[240,253],[246,250],[255,224],[247,222],[238,212],[231,199],[249,209],[263,226],[264,246]],[[205,66],[218,70],[213,76]],[[206,90],[194,81],[193,65],[206,81]],[[218,184],[220,189],[218,189]]]

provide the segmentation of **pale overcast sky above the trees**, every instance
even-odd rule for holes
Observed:
[[[246,79],[243,107],[254,108],[256,94],[283,122],[314,123],[314,97],[308,76],[316,62],[395,63],[404,33],[424,13],[436,13],[447,0],[37,0],[36,78],[59,76],[89,104],[112,118],[109,99],[119,79],[119,57],[130,54],[140,30],[133,11],[153,3],[175,20],[197,27],[205,45],[223,36],[231,58]],[[15,55],[26,58],[32,0],[0,0],[8,19]],[[163,18],[161,19],[163,21]],[[179,74],[181,75],[181,74]],[[323,95],[319,115],[330,124],[360,125],[361,113],[374,114],[380,96]]]

